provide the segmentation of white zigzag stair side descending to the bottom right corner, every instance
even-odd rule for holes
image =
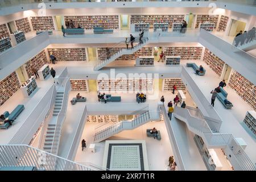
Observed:
[[[230,133],[213,133],[204,119],[192,116],[191,109],[175,106],[174,117],[186,123],[189,130],[203,138],[207,148],[223,148],[225,153],[232,153],[236,158],[238,169],[255,171],[256,166],[245,153],[236,138]],[[232,160],[230,160],[232,163]]]

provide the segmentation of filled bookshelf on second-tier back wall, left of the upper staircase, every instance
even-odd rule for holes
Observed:
[[[86,61],[85,48],[48,48],[47,52],[52,52],[57,61]]]

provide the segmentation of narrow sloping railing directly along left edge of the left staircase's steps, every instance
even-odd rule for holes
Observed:
[[[44,147],[44,141],[46,139],[47,126],[48,126],[49,121],[50,121],[49,114],[52,113],[51,110],[52,110],[53,105],[55,104],[55,98],[56,98],[56,86],[53,85],[51,104],[49,104],[49,106],[48,106],[48,112],[44,116],[43,126],[42,126],[42,129],[41,129],[41,134],[40,134],[40,139],[39,139],[39,144],[38,144],[38,148],[40,150],[43,150],[43,147]]]

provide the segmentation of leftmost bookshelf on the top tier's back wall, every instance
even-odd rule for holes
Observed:
[[[31,16],[34,31],[54,30],[52,16]]]

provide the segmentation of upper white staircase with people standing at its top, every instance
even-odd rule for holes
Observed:
[[[142,44],[137,44],[136,46],[134,46],[133,49],[123,48],[120,51],[118,51],[117,53],[115,53],[114,55],[112,55],[111,57],[109,57],[108,59],[106,59],[106,55],[103,55],[103,56],[105,56],[105,60],[102,60],[102,61],[100,61],[100,63],[96,64],[94,66],[94,70],[100,70],[101,68],[105,67],[106,65],[108,65],[109,63],[111,63],[112,61],[117,59],[118,57],[120,57],[122,55],[130,55],[130,54],[138,51],[139,49],[141,49],[143,46],[145,46],[148,43],[149,43],[149,39],[148,38],[144,38],[143,39],[143,43]],[[119,44],[122,44],[122,43],[119,43]],[[115,46],[115,47],[117,47],[117,46]]]

